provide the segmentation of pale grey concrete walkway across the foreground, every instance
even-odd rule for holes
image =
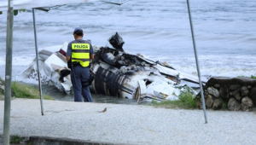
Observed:
[[[3,111],[4,102],[0,101],[0,144]],[[207,110],[207,118],[205,124],[202,110],[60,101],[44,101],[42,116],[39,100],[15,99],[11,102],[10,134],[32,136],[34,142],[255,144],[255,112]]]

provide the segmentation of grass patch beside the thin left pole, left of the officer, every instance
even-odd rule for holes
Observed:
[[[27,99],[40,99],[39,90],[35,87],[28,86],[26,84],[19,84],[12,82],[12,90],[15,92],[16,98],[27,98]],[[45,100],[54,100],[52,96],[44,95]]]

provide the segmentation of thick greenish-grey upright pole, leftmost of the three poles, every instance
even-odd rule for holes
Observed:
[[[8,2],[7,32],[6,32],[6,62],[5,62],[5,92],[4,92],[4,120],[3,120],[3,145],[9,145],[9,124],[11,107],[12,83],[12,54],[13,54],[13,26],[14,2]]]

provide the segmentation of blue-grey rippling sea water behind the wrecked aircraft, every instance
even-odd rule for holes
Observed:
[[[256,75],[256,1],[193,0],[198,60],[202,76]],[[121,6],[94,2],[66,5],[49,12],[36,11],[38,46],[73,40],[82,27],[84,39],[108,45],[115,32],[124,49],[155,61],[166,61],[183,72],[196,74],[189,14],[184,0],[130,1]],[[0,15],[0,76],[4,78],[6,12]],[[13,78],[35,57],[32,10],[15,16]]]

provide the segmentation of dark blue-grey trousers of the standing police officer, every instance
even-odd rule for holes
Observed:
[[[88,84],[88,80],[90,78],[90,68],[89,67],[82,67],[82,66],[76,66],[73,67],[75,78],[73,75],[73,70],[71,70],[71,81],[73,84],[73,94],[74,94],[74,102],[92,102],[91,96],[90,96],[90,89],[89,86],[84,87],[83,85]],[[76,79],[76,82],[75,80]],[[77,86],[78,85],[78,86]]]

